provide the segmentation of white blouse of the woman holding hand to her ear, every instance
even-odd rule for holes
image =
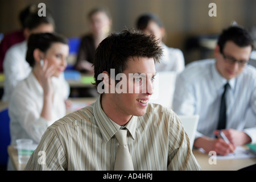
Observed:
[[[65,92],[63,85],[56,77],[52,77],[54,97],[52,106],[52,120],[41,117],[43,108],[43,88],[31,72],[20,81],[9,102],[11,144],[19,138],[30,138],[38,144],[44,131],[53,122],[66,114]]]

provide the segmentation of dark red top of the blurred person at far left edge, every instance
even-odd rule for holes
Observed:
[[[20,43],[25,40],[23,30],[18,30],[6,34],[0,43],[0,72],[3,72],[3,60],[5,59],[5,53],[7,50],[16,43]]]

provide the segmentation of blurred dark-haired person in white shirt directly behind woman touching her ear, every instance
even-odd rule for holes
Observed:
[[[53,32],[55,30],[55,22],[47,10],[47,16],[38,16],[38,11],[27,16],[24,22],[24,36],[26,40],[12,46],[5,55],[3,61],[3,68],[5,74],[4,93],[2,101],[9,101],[11,93],[19,81],[26,78],[30,72],[31,67],[26,61],[27,39],[31,34]],[[63,92],[69,95],[70,88],[68,82],[64,79],[64,73],[59,77],[63,84]],[[68,102],[67,102],[68,104]]]

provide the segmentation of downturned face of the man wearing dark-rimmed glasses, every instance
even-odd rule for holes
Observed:
[[[226,42],[222,53],[220,48],[217,46],[215,50],[216,56],[216,68],[217,71],[226,78],[230,80],[237,77],[243,71],[244,66],[238,64],[237,61],[249,61],[251,53],[251,46],[239,47],[234,42]],[[236,63],[230,63],[231,60],[237,60]]]

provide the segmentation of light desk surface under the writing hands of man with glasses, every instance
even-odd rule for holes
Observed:
[[[199,150],[193,154],[203,171],[237,171],[238,169],[256,164],[255,158],[216,160],[216,164],[209,164],[209,156]]]

